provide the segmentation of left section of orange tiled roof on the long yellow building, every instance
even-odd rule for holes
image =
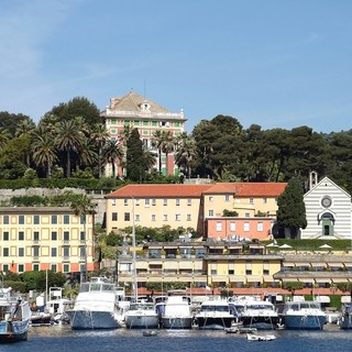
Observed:
[[[163,197],[200,197],[211,185],[128,185],[109,195],[106,198],[163,198]]]

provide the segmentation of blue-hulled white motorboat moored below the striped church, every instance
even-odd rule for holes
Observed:
[[[285,329],[322,330],[327,315],[314,300],[287,301],[283,310]]]

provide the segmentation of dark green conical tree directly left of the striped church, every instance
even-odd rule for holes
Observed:
[[[306,206],[304,202],[304,188],[298,178],[292,178],[284,193],[277,199],[277,223],[287,230],[290,238],[296,238],[298,230],[306,229]]]

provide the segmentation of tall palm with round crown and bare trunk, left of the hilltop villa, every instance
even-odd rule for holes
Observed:
[[[77,121],[61,121],[55,143],[58,150],[66,152],[66,176],[70,177],[72,152],[77,152],[81,143],[81,132]]]

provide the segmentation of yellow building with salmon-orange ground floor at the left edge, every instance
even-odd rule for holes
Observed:
[[[0,271],[94,271],[92,231],[68,207],[0,207]]]

